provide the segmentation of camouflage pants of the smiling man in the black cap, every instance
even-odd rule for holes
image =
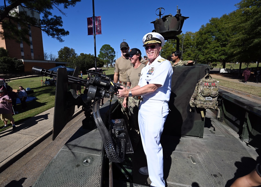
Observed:
[[[129,125],[133,136],[133,142],[138,143],[140,139],[140,129],[138,123],[140,100],[135,100],[133,97],[129,97],[128,109],[129,109]]]

